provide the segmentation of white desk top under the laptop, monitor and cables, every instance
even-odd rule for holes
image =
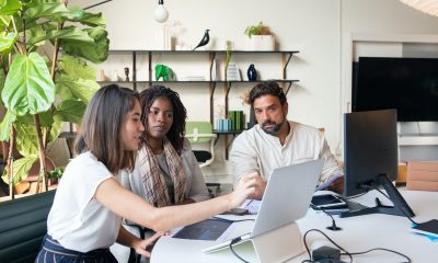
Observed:
[[[438,193],[401,191],[402,195],[410,204],[418,222],[429,219],[438,219]],[[361,196],[362,204],[370,204],[374,197],[380,194],[377,192],[368,193]],[[359,199],[359,198],[358,198]],[[380,198],[382,203],[384,197]],[[372,202],[371,202],[372,201]],[[384,248],[395,250],[406,254],[415,262],[436,262],[438,242],[433,242],[425,237],[410,231],[411,221],[407,218],[389,215],[366,215],[350,218],[338,218],[335,216],[336,225],[342,227],[341,231],[331,231],[325,227],[332,225],[332,220],[323,213],[315,213],[309,209],[307,216],[298,221],[301,233],[309,229],[316,228],[325,232],[331,239],[349,252],[360,252],[372,248]],[[252,221],[242,221],[239,224],[233,236],[249,232],[252,229]],[[308,235],[309,247],[318,248],[328,244],[328,241],[318,232]],[[201,249],[214,244],[212,241],[183,240],[170,237],[161,238],[152,250],[151,262],[240,262],[230,250],[218,253],[205,254]],[[276,244],[273,244],[276,245]],[[242,252],[242,258],[254,262],[254,255]],[[246,256],[246,258],[245,258]],[[308,259],[307,253],[291,259],[288,262],[301,262]],[[348,258],[343,258],[349,262]],[[403,262],[404,258],[384,251],[376,251],[365,255],[355,255],[354,262]]]

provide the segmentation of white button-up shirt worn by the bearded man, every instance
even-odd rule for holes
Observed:
[[[290,132],[281,145],[278,137],[266,134],[260,125],[243,132],[233,141],[230,160],[234,184],[241,176],[257,172],[269,180],[270,172],[279,167],[325,159],[320,176],[324,183],[332,175],[342,173],[323,133],[318,128],[289,122]]]

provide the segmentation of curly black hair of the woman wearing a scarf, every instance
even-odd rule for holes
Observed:
[[[140,92],[140,106],[142,110],[141,123],[148,126],[148,113],[153,102],[159,98],[165,98],[172,103],[173,124],[165,137],[171,141],[176,152],[181,155],[184,144],[185,121],[187,118],[187,110],[181,102],[180,94],[164,85],[151,85]],[[145,141],[145,138],[143,138]]]

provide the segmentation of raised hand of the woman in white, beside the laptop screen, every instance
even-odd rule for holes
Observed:
[[[231,208],[235,208],[240,206],[245,199],[255,194],[255,186],[257,184],[257,178],[260,178],[258,173],[253,172],[242,176],[239,180],[238,185],[234,191],[231,193]],[[230,209],[231,209],[230,208]]]

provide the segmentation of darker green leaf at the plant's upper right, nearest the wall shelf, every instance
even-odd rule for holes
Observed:
[[[110,39],[107,32],[103,27],[84,30],[94,43],[81,43],[74,39],[61,42],[62,49],[72,55],[85,58],[92,62],[103,62],[108,57]]]

